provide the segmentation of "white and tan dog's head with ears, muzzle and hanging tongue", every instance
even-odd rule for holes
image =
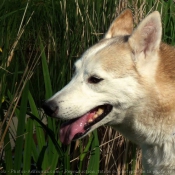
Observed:
[[[143,77],[149,80],[147,86],[154,81],[149,77],[154,77],[160,41],[158,12],[134,31],[130,10],[114,20],[104,39],[75,63],[70,83],[43,105],[46,114],[67,120],[60,129],[62,143],[69,144],[104,124],[123,123],[128,111],[145,98]]]

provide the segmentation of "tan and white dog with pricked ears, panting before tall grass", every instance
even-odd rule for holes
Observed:
[[[141,147],[146,174],[175,174],[175,48],[161,37],[159,12],[133,29],[126,9],[85,51],[70,83],[43,104],[68,120],[63,144],[109,125]]]

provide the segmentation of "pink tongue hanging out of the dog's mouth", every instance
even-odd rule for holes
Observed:
[[[88,120],[94,116],[95,112],[90,112],[77,119],[75,122],[61,127],[60,140],[63,144],[69,144],[78,133],[85,133],[84,126]]]

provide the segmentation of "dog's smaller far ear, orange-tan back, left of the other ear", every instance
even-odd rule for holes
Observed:
[[[133,31],[133,16],[129,9],[123,11],[111,24],[105,38],[112,38],[120,35],[131,35]]]

